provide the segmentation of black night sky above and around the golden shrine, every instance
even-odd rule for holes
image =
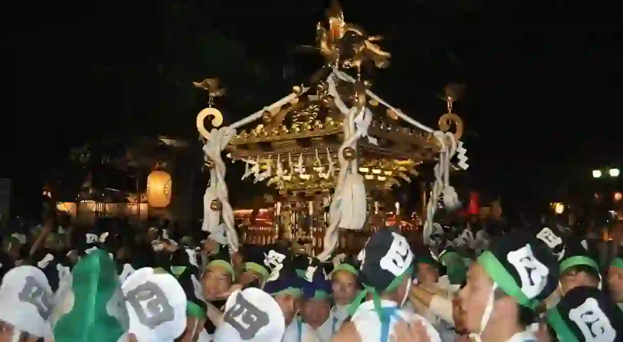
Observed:
[[[135,4],[136,3],[136,4]],[[0,175],[36,196],[67,149],[102,137],[196,139],[217,76],[235,121],[286,95],[318,67],[312,45],[328,2],[148,1],[12,4],[2,13]],[[148,4],[147,4],[148,3]],[[269,5],[270,4],[270,5]],[[63,7],[65,6],[65,7]],[[435,126],[444,85],[467,85],[469,177],[513,206],[548,198],[561,179],[619,166],[623,61],[615,1],[344,1],[346,20],[386,37],[391,67],[373,90]],[[232,190],[235,191],[235,190]]]

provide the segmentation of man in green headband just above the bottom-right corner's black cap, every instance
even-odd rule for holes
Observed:
[[[580,241],[571,239],[564,247],[560,261],[560,289],[564,295],[578,286],[601,289],[601,273],[593,254]]]

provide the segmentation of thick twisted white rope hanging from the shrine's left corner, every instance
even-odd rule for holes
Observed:
[[[235,136],[231,127],[212,129],[210,140],[203,147],[206,157],[214,162],[210,170],[210,183],[203,196],[203,223],[201,229],[210,232],[210,238],[218,243],[227,243],[232,251],[238,251],[238,235],[234,229],[234,211],[229,204],[227,183],[225,182],[226,167],[221,158],[222,150]],[[214,200],[221,202],[221,210],[212,210]],[[221,223],[221,217],[223,223]]]

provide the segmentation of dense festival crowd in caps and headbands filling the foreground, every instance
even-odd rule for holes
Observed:
[[[197,230],[12,229],[0,342],[623,341],[623,254],[568,229],[386,227],[326,261]]]

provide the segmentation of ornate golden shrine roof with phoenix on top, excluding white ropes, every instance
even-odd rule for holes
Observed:
[[[385,68],[391,57],[374,44],[380,37],[368,36],[346,22],[337,2],[327,11],[326,22],[318,23],[316,33],[317,50],[326,65],[312,77],[315,83],[294,86],[288,101],[262,112],[262,123],[239,131],[229,146],[232,158],[259,164],[257,172],[248,174],[255,179],[269,167],[283,170],[273,173],[269,184],[284,192],[329,191],[337,185],[338,150],[348,134],[345,111],[365,107],[367,136],[376,138],[356,142],[358,169],[366,186],[389,189],[399,185],[399,179],[410,181],[422,162],[434,158],[439,146],[429,132],[404,126],[397,109],[367,94],[370,83],[361,80],[361,66]],[[357,80],[340,72],[346,68],[355,71]],[[297,172],[303,167],[305,172]]]

